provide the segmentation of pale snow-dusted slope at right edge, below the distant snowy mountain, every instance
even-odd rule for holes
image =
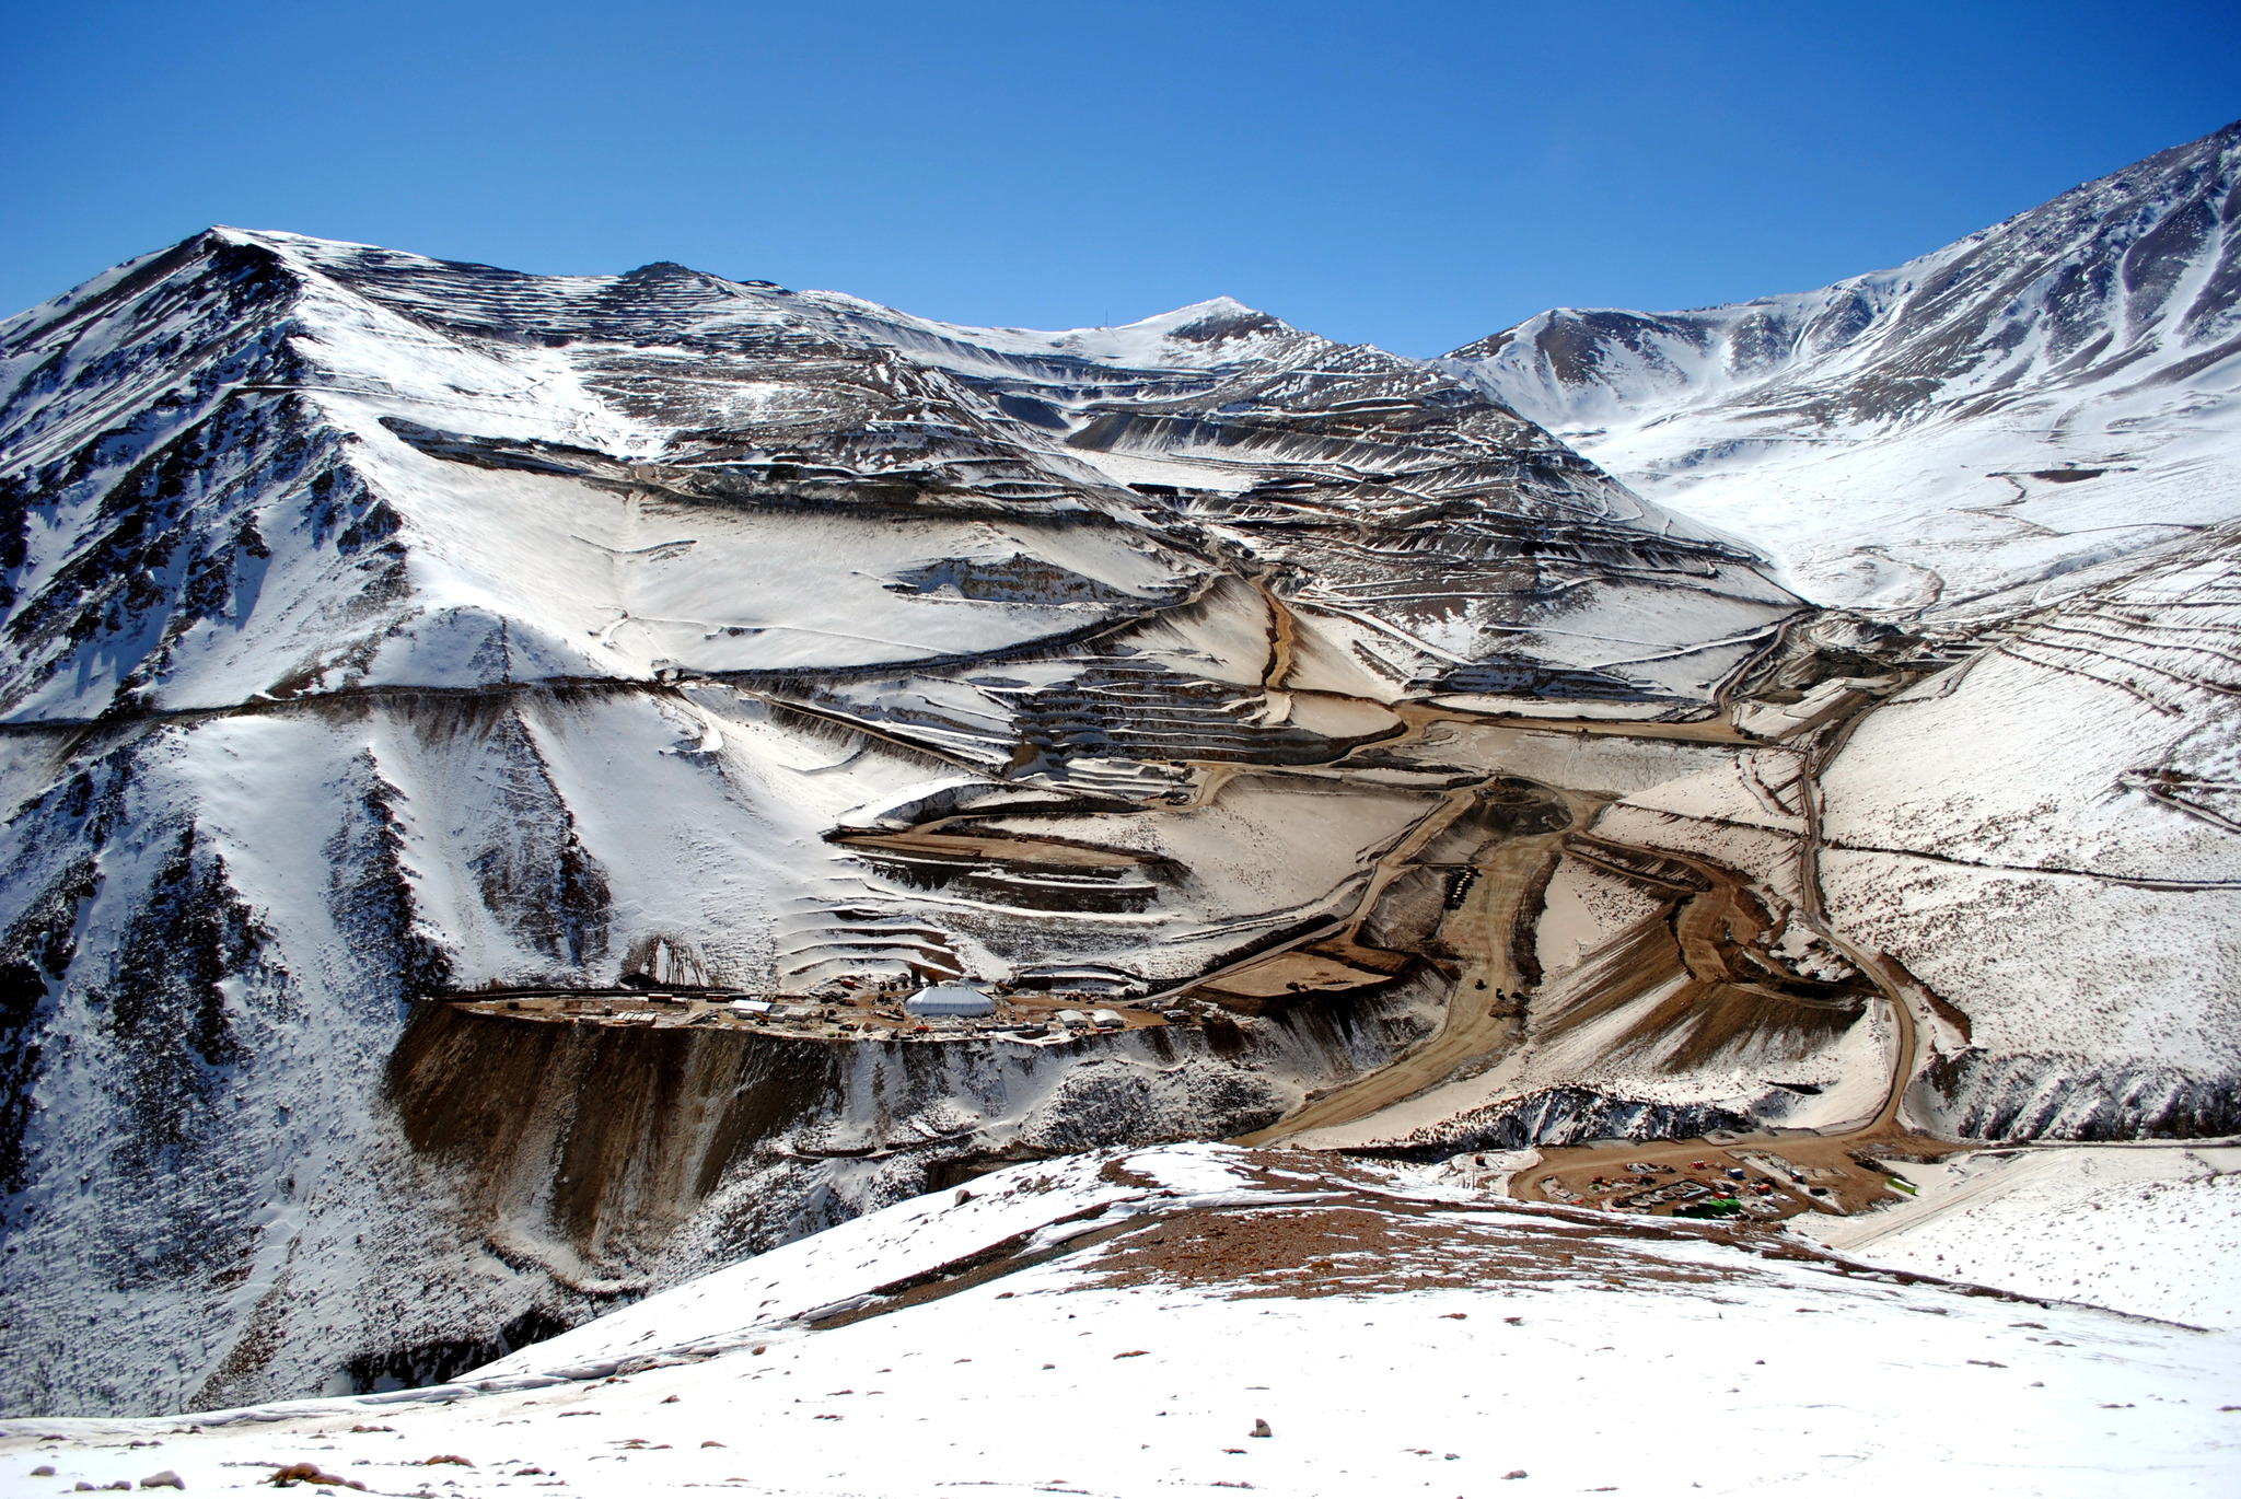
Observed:
[[[1831,921],[1936,990],[1909,1109],[1961,1138],[2232,1134],[2237,538],[2160,549],[1865,717]]]

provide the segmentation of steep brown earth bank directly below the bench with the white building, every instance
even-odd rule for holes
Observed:
[[[1268,1125],[1300,1089],[1356,1078],[1423,1040],[1441,995],[1439,981],[1414,979],[1273,1017],[1047,1051],[527,1024],[424,1004],[383,1093],[412,1170],[450,1201],[450,1232],[511,1268],[459,1300],[448,1324],[504,1324],[502,1342],[515,1335],[506,1329],[549,1335],[991,1156]],[[457,1371],[466,1351],[493,1342],[484,1331],[412,1331],[426,1318],[390,1326],[390,1342],[347,1360],[354,1387]],[[336,1378],[298,1360],[294,1378],[307,1376]]]

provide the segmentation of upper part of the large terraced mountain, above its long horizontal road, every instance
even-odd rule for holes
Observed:
[[[1380,639],[1392,690],[1535,648],[1600,668],[1587,598],[1620,639],[1791,607],[1501,408],[1235,302],[955,329],[684,267],[213,231],[0,350],[16,719],[948,661],[1172,603],[1224,547]],[[1416,556],[1365,551],[1385,533]],[[861,565],[811,562],[836,542]],[[760,596],[719,596],[740,569]]]

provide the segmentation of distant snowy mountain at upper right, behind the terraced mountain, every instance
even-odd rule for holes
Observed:
[[[2241,123],[1889,271],[1439,363],[1815,603],[2015,612],[2241,513]]]

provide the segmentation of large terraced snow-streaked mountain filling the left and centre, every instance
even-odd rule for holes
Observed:
[[[1439,972],[1058,1051],[401,1042],[491,981],[1185,984],[1450,800],[1286,766],[1403,699],[1685,717],[1800,609],[1235,302],[961,329],[211,231],[0,325],[0,1387],[43,1409],[426,1378],[943,1152],[1266,1125]]]

